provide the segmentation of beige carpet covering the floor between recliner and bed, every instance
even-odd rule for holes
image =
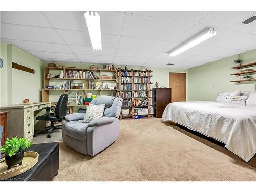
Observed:
[[[122,120],[119,139],[95,157],[60,142],[54,181],[256,181],[256,158],[245,163],[161,119]]]

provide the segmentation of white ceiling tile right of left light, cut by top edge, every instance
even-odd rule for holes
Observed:
[[[125,13],[117,11],[99,11],[101,33],[120,35]]]

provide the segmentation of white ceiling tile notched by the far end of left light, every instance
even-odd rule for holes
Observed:
[[[96,51],[96,50],[93,50],[93,48],[89,47],[89,46],[69,45],[69,47],[76,54],[106,55],[106,56],[115,56],[115,54],[116,54],[116,49],[115,48],[102,47],[101,51]]]

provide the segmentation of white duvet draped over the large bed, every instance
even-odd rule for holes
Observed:
[[[166,106],[163,121],[173,121],[220,140],[246,162],[256,153],[256,106],[174,102]]]

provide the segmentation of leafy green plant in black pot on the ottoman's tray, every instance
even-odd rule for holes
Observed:
[[[5,163],[8,166],[8,170],[16,164],[22,165],[24,150],[30,147],[31,144],[25,138],[14,137],[6,139],[5,145],[3,148],[0,148],[0,151],[5,153]]]

